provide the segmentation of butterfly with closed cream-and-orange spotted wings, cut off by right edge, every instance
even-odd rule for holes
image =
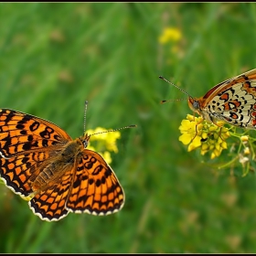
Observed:
[[[159,78],[165,80],[162,76]],[[193,98],[175,84],[169,83],[186,93],[189,108],[208,122],[225,121],[235,126],[256,129],[256,69],[220,82],[199,98]]]

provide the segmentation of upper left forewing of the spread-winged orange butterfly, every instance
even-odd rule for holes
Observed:
[[[44,119],[13,110],[0,110],[0,153],[4,157],[22,154],[71,138],[57,125]]]

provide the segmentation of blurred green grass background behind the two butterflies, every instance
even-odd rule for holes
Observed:
[[[178,141],[186,98],[256,68],[254,3],[0,4],[0,107],[122,131],[112,169],[126,195],[106,217],[35,216],[0,186],[0,252],[255,252],[256,176],[202,164]],[[180,37],[159,41],[165,27]]]

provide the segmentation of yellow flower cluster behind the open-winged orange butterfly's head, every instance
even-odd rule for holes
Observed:
[[[90,137],[89,145],[87,149],[91,149],[99,153],[108,164],[112,163],[112,157],[110,151],[118,153],[118,148],[116,146],[116,140],[121,137],[121,133],[118,131],[111,133],[107,132],[105,128],[97,127],[95,130],[88,130],[88,134],[93,134]],[[94,134],[98,133],[98,134]]]

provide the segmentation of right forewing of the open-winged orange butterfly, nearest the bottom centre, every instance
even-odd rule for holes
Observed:
[[[101,155],[83,149],[78,161],[67,208],[93,215],[107,215],[123,208],[123,188]]]

